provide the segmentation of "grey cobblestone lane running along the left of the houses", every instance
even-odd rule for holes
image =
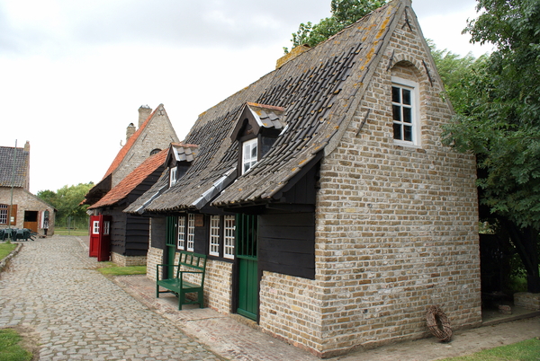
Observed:
[[[0,275],[0,328],[34,330],[40,360],[222,360],[96,265],[76,237],[24,242]]]

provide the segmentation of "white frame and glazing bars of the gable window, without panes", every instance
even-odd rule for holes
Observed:
[[[392,137],[394,137],[394,124],[401,127],[401,139],[393,139],[394,144],[396,145],[405,145],[405,146],[419,146],[420,145],[420,106],[419,106],[419,84],[407,79],[402,79],[397,76],[392,76],[392,88],[397,87],[399,89],[405,89],[410,91],[410,104],[403,104],[401,102],[394,102],[392,100]],[[392,89],[393,92],[393,89]],[[391,98],[392,98],[391,92]],[[410,109],[410,127],[411,127],[411,140],[404,140],[403,128],[409,126],[406,122],[402,120],[393,119],[393,109],[394,106],[400,107],[401,119],[403,109]]]

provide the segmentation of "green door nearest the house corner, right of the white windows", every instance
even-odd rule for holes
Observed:
[[[257,321],[258,268],[257,216],[237,215],[238,309],[237,313]]]

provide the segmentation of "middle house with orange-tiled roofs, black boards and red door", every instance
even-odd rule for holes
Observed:
[[[175,129],[163,104],[152,111],[148,106],[139,108],[139,128],[131,123],[126,131],[126,143],[121,147],[102,181],[85,195],[84,204],[95,220],[107,217],[107,238],[110,242],[93,243],[94,229],[90,230],[90,255],[97,257],[97,249],[119,265],[146,264],[148,251],[148,218],[122,212],[130,203],[157,181],[163,172],[163,163],[170,143],[178,142]],[[94,245],[94,247],[92,247]],[[107,250],[101,250],[107,248]],[[110,250],[109,250],[110,248]]]

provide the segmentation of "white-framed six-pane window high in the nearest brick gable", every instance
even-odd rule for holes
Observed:
[[[419,145],[418,84],[392,77],[393,138],[396,143]]]

